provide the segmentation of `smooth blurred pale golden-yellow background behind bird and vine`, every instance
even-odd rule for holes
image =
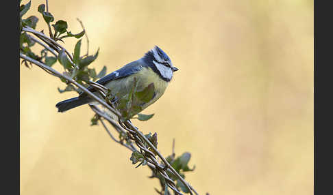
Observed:
[[[26,16],[48,32],[41,3]],[[173,138],[177,155],[192,153],[186,180],[199,194],[313,194],[313,1],[51,0],[49,10],[73,33],[83,21],[97,70],[154,45],[167,52],[180,71],[143,112],[156,115],[134,123],[158,133],[165,156]],[[57,112],[75,92],[58,93],[64,83],[36,66],[20,74],[21,194],[156,194],[150,170],[90,126],[88,106]]]

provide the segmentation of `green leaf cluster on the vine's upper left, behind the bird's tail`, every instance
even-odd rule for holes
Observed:
[[[36,44],[36,39],[34,39],[31,35],[28,35],[26,32],[22,31],[23,27],[36,29],[36,25],[38,23],[38,18],[36,16],[29,16],[27,18],[23,18],[23,16],[30,9],[30,6],[31,1],[29,1],[27,4],[23,4],[20,6],[20,51],[24,55],[27,55],[28,57],[31,57],[36,61],[40,61],[41,63],[44,63],[49,67],[51,67],[58,61],[62,65],[62,67],[64,67],[64,74],[71,76],[71,78],[85,86],[87,85],[84,82],[88,82],[88,80],[95,81],[98,78],[102,78],[106,75],[106,66],[104,66],[98,74],[95,68],[88,67],[88,65],[90,65],[91,63],[93,63],[93,61],[95,61],[95,59],[97,59],[99,49],[97,50],[95,55],[88,55],[88,53],[86,55],[80,54],[82,42],[82,39],[80,38],[85,34],[85,30],[83,29],[81,32],[73,34],[71,33],[71,31],[68,30],[68,25],[65,20],[57,20],[56,23],[53,23],[55,21],[53,14],[51,14],[51,12],[45,11],[45,4],[41,4],[38,6],[38,12],[42,15],[45,23],[47,23],[47,25],[49,26],[50,38],[55,42],[64,42],[63,40],[66,37],[75,37],[79,40],[77,41],[77,44],[75,44],[73,57],[71,57],[71,55],[69,55],[69,52],[67,52],[64,48],[58,48],[57,46],[51,44],[51,42],[47,42],[42,37],[40,37],[41,41],[45,41],[45,43],[49,46],[51,50],[58,51],[58,55],[50,55],[50,51],[47,48],[41,50],[40,54],[33,52],[32,46]],[[51,26],[53,27],[53,31],[51,30]],[[43,31],[41,32],[43,33]],[[29,67],[27,61],[23,60],[22,63]],[[32,65],[32,63],[30,64]],[[65,79],[60,79],[67,85],[65,89],[58,88],[58,91],[60,93],[66,91],[77,91],[78,93],[80,92],[79,89],[77,89],[71,84],[68,84]]]

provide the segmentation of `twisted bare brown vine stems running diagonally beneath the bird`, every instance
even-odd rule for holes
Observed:
[[[32,28],[29,27],[23,27],[22,31],[25,31],[27,33],[32,33],[32,35],[35,35],[39,40],[36,39],[36,37],[33,37],[33,40],[38,42],[41,46],[45,47],[47,50],[52,52],[53,55],[58,56],[60,53],[60,50],[64,50],[66,52],[66,55],[71,59],[71,63],[73,63],[73,57],[71,54],[58,42],[52,39],[52,37],[48,37],[42,32],[35,31]],[[42,43],[42,42],[45,42]],[[58,53],[58,55],[57,55]],[[115,106],[110,102],[109,100],[102,100],[94,93],[88,91],[86,87],[83,85],[80,85],[78,82],[73,80],[70,76],[66,74],[61,74],[60,72],[54,70],[52,67],[49,67],[42,63],[41,61],[37,61],[35,59],[32,59],[31,57],[28,57],[27,55],[23,55],[23,53],[20,52],[21,59],[24,59],[25,61],[29,61],[30,63],[34,63],[38,67],[42,68],[42,70],[45,70],[47,73],[52,74],[53,76],[57,76],[59,78],[66,79],[66,82],[71,83],[81,89],[84,93],[89,95],[91,98],[93,98],[96,102],[99,102],[105,108],[108,112],[112,112],[116,117],[121,117],[121,114],[118,110],[116,110]],[[73,63],[73,65],[76,67],[76,65]],[[86,82],[87,85],[92,86],[98,91],[98,93],[103,97],[106,98],[106,87],[103,85],[99,85],[97,82],[89,81]],[[103,127],[106,129],[106,132],[109,134],[110,138],[114,140],[115,142],[119,143],[120,145],[123,145],[127,149],[130,149],[130,151],[140,151],[143,153],[145,160],[147,161],[147,166],[152,168],[154,171],[159,172],[160,175],[165,179],[165,182],[167,183],[167,187],[171,188],[175,194],[182,194],[179,190],[176,188],[175,182],[169,177],[167,172],[171,172],[177,179],[179,179],[182,184],[187,188],[188,192],[193,195],[193,193],[198,194],[195,189],[186,182],[180,174],[169,164],[169,162],[163,157],[163,155],[156,149],[156,147],[149,141],[148,138],[146,138],[142,132],[138,130],[137,127],[135,127],[131,121],[116,121],[115,119],[112,119],[110,115],[107,114],[106,111],[101,110],[99,107],[95,105],[90,105],[90,108],[95,112],[95,114],[98,116],[98,120],[101,122]],[[106,123],[104,123],[103,120],[108,121],[112,127],[114,127],[114,130],[121,134],[121,139],[117,140],[108,127],[106,126]],[[135,145],[136,146],[135,146]],[[146,146],[148,145],[148,147]],[[173,144],[174,145],[174,144]],[[156,155],[162,160],[163,164],[160,164],[158,162],[158,159],[156,158]]]

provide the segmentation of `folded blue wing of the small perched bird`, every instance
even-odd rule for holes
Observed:
[[[124,78],[127,76],[130,76],[132,74],[135,74],[136,72],[140,71],[143,68],[143,65],[140,63],[140,61],[132,61],[131,63],[127,63],[123,67],[121,67],[119,70],[116,70],[114,72],[111,72],[110,74],[103,76],[101,79],[97,80],[96,82],[101,85],[106,85],[106,83],[116,80],[119,78]],[[89,91],[93,92],[95,91],[95,88],[88,87]],[[80,93],[79,95],[82,95]]]

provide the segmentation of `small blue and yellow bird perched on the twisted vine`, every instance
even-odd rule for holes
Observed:
[[[130,93],[134,78],[136,79],[137,91],[141,91],[148,87],[149,84],[153,83],[153,97],[149,102],[140,105],[143,110],[156,102],[156,100],[163,95],[173,77],[173,72],[177,70],[177,67],[173,66],[168,55],[158,46],[155,46],[142,58],[132,61],[119,70],[104,76],[97,80],[97,83],[110,89],[110,92],[117,94],[117,97],[124,97],[126,94]],[[87,89],[99,96],[95,88],[88,87]],[[56,107],[58,108],[58,112],[64,112],[84,104],[96,104],[96,102],[86,95],[86,93],[79,93],[78,97],[59,102],[56,104]],[[133,113],[133,115],[136,114],[138,113]]]

